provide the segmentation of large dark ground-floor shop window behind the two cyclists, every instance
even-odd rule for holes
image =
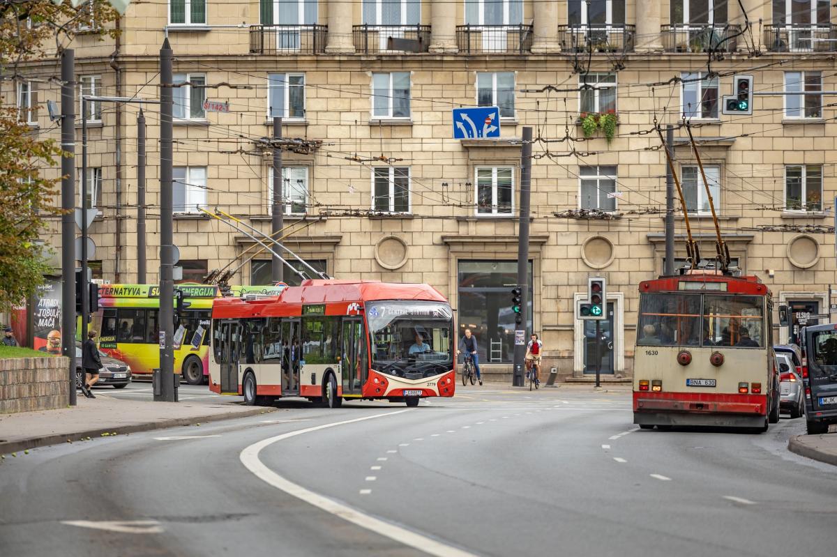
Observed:
[[[532,262],[528,265],[526,328],[531,329]],[[480,364],[509,363],[515,350],[515,313],[509,303],[510,284],[517,284],[517,261],[460,260],[459,331],[465,329],[476,337]]]

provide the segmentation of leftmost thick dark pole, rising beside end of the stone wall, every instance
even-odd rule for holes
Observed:
[[[69,406],[75,406],[75,52],[61,53],[61,354],[69,358]]]

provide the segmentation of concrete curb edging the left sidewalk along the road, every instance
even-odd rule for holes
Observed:
[[[30,448],[49,447],[49,445],[58,445],[65,442],[81,441],[85,437],[95,439],[101,437],[102,433],[116,433],[117,435],[124,435],[126,433],[151,432],[156,429],[167,429],[169,427],[191,426],[195,423],[221,422],[222,420],[234,420],[235,418],[258,416],[259,414],[269,413],[279,410],[271,406],[259,406],[247,411],[235,412],[234,414],[208,414],[205,416],[191,416],[182,418],[172,418],[170,420],[161,420],[159,422],[144,422],[135,423],[130,426],[117,426],[108,428],[90,429],[85,432],[73,432],[66,434],[46,435],[44,437],[31,437],[28,439],[21,439],[19,441],[9,441],[0,443],[0,454],[9,454],[11,452],[24,451]]]

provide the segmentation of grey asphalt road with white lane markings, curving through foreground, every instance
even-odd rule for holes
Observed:
[[[0,554],[764,557],[837,544],[837,470],[786,449],[803,420],[763,435],[639,431],[628,393],[569,388],[280,408],[7,457]]]

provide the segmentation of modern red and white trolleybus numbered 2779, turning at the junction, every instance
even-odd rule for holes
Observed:
[[[212,328],[209,388],[247,404],[454,396],[453,312],[427,284],[305,280],[215,300]]]

